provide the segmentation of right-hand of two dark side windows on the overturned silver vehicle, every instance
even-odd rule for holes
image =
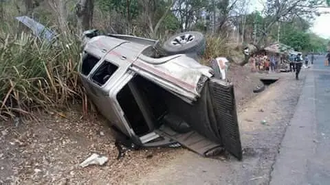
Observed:
[[[102,86],[105,84],[105,82],[108,81],[108,79],[117,71],[118,66],[115,64],[111,64],[110,62],[104,61],[96,70],[94,75],[91,77],[93,81],[98,84],[99,86]]]

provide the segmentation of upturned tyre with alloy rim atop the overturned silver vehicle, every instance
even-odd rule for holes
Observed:
[[[163,50],[167,55],[197,53],[203,55],[206,38],[200,32],[183,32],[170,37],[164,42]]]

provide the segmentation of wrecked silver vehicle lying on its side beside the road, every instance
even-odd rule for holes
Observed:
[[[205,45],[199,32],[173,36],[163,52],[156,40],[93,36],[80,77],[99,112],[134,145],[179,143],[202,156],[225,149],[241,160],[234,88],[197,62]]]

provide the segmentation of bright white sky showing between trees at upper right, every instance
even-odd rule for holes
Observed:
[[[250,0],[248,12],[263,10],[263,3],[264,0]],[[329,14],[321,14],[316,17],[314,24],[311,27],[311,32],[314,32],[322,38],[330,38],[330,8],[322,8],[320,9],[320,12],[329,12]]]

